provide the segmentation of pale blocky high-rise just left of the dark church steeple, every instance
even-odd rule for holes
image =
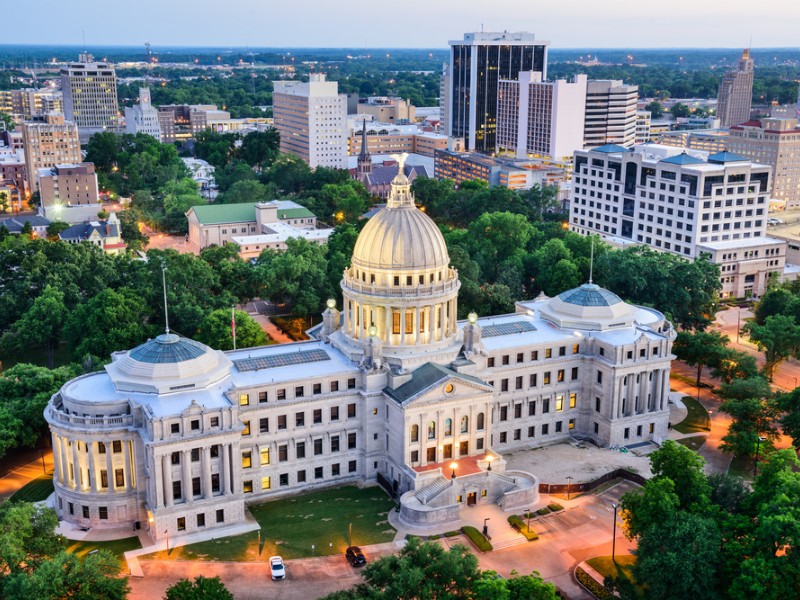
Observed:
[[[272,110],[281,152],[312,168],[347,168],[347,96],[338,83],[321,73],[311,74],[308,83],[275,81]]]

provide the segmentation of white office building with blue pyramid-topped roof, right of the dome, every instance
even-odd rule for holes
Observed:
[[[575,153],[570,229],[720,265],[724,297],[757,297],[786,243],[766,237],[770,167],[730,152],[646,144]]]

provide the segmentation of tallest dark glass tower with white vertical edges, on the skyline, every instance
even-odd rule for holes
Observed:
[[[538,71],[547,79],[547,46],[532,33],[465,33],[450,42],[447,135],[464,138],[467,150],[492,153],[496,145],[497,85]]]

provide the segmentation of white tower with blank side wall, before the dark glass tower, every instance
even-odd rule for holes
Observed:
[[[542,81],[541,73],[528,71],[519,79],[501,79],[497,151],[571,162],[572,153],[583,148],[585,110],[586,75]]]

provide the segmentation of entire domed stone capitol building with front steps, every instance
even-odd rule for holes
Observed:
[[[409,528],[445,527],[465,506],[535,502],[536,474],[505,452],[666,437],[664,316],[588,283],[458,321],[458,274],[402,173],[312,341],[221,352],[167,332],[64,384],[45,410],[61,519],[158,540],[380,483]]]

